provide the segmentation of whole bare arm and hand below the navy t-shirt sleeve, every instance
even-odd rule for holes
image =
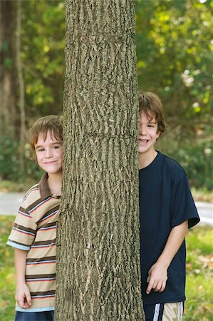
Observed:
[[[175,257],[175,254],[179,250],[180,245],[182,245],[187,230],[187,220],[185,220],[185,222],[182,224],[175,226],[175,228],[172,228],[162,254],[148,272],[147,282],[149,282],[149,284],[146,290],[147,294],[149,294],[152,289],[154,289],[155,292],[162,292],[165,290],[167,282],[167,269],[170,266],[172,259]]]

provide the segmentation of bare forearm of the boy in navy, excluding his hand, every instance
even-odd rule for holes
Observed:
[[[188,230],[188,221],[186,220],[180,225],[172,228],[170,235],[167,239],[167,243],[165,245],[162,254],[157,260],[157,263],[162,263],[166,268],[170,266],[172,259],[175,257],[175,254],[180,249],[183,240],[185,239],[185,235]]]

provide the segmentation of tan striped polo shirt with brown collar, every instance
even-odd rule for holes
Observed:
[[[56,297],[56,222],[60,196],[51,195],[44,174],[40,182],[28,190],[19,208],[8,245],[28,251],[26,285],[32,305],[16,311],[54,310]]]

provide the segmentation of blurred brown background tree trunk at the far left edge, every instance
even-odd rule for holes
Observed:
[[[16,1],[0,1],[0,134],[14,136],[16,125],[15,76]]]

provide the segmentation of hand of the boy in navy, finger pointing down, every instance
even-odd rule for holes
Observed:
[[[162,292],[165,290],[167,282],[167,267],[160,263],[152,265],[148,272],[146,293],[149,294],[153,289],[155,292]]]

